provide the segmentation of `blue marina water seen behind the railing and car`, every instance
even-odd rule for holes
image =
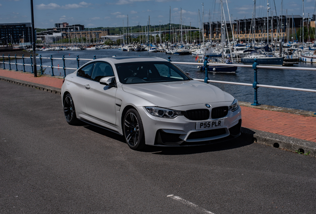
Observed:
[[[192,55],[168,55],[165,53],[149,53],[149,52],[123,52],[118,49],[101,49],[101,50],[84,50],[84,51],[48,51],[36,52],[37,57],[41,54],[42,57],[53,57],[62,58],[65,55],[66,58],[96,58],[116,56],[157,56],[167,59],[171,56],[172,61],[176,62],[196,62]],[[70,54],[70,55],[69,55]],[[17,60],[18,63],[22,62],[22,59]],[[11,62],[15,62],[11,60]],[[83,65],[85,60],[80,61],[80,66]],[[40,65],[40,60],[37,58],[37,65]],[[66,60],[66,67],[77,68],[77,60]],[[30,58],[25,58],[25,64],[30,64]],[[50,59],[42,59],[43,65],[51,66]],[[60,66],[59,69],[54,68],[54,74],[56,76],[63,76],[63,60],[54,59],[54,66]],[[8,68],[8,65],[5,65]],[[193,78],[204,79],[205,72],[201,72],[196,65],[185,65],[177,64],[185,72],[189,72]],[[299,62],[298,67],[316,67],[316,64]],[[11,65],[11,69],[15,70],[15,65]],[[18,65],[18,70],[22,70],[22,65]],[[39,67],[38,67],[39,69]],[[44,68],[43,68],[44,69]],[[30,72],[31,67],[25,66],[25,70]],[[74,70],[66,70],[66,74],[72,73]],[[46,68],[45,74],[51,74],[51,68]],[[209,73],[210,80],[228,81],[228,82],[239,82],[239,83],[253,83],[253,69],[238,67],[236,74],[224,74],[224,73]],[[316,71],[305,71],[305,70],[283,70],[283,69],[263,69],[258,68],[258,83],[263,85],[273,86],[284,86],[304,89],[316,89]],[[253,103],[254,90],[249,86],[238,86],[231,84],[219,84],[210,83],[222,90],[233,95],[237,100],[243,102]],[[203,95],[200,95],[203,96]],[[316,94],[312,92],[299,92],[282,89],[271,89],[271,88],[258,88],[258,102],[260,104],[277,106],[277,107],[288,107],[309,111],[316,111]]]

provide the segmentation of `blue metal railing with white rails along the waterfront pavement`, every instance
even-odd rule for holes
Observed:
[[[9,58],[9,62],[4,62],[4,57],[8,57]],[[11,64],[15,64],[16,65],[16,71],[17,71],[17,65],[23,65],[23,72],[25,72],[25,65],[31,66],[32,67],[32,73],[34,72],[33,70],[33,57],[32,54],[30,56],[31,59],[31,64],[25,64],[24,63],[24,54],[22,56],[14,56],[15,58],[15,62],[11,62],[10,61],[10,54],[8,54],[8,56],[4,56],[4,54],[2,54],[2,63],[3,64],[3,69],[5,69],[5,64],[9,64],[9,70],[11,70]],[[17,58],[22,58],[23,63],[17,63]],[[53,60],[54,59],[60,59],[63,60],[63,69],[64,69],[64,78],[66,77],[66,69],[71,69],[71,70],[77,70],[80,67],[79,61],[80,60],[85,60],[85,61],[90,61],[90,60],[94,60],[96,59],[96,56],[93,56],[93,59],[85,59],[85,58],[79,58],[79,55],[77,55],[77,58],[65,58],[65,55],[63,55],[62,58],[54,58],[53,55],[51,55],[50,57],[42,57],[42,55],[40,55],[39,57],[36,57],[40,59],[40,65],[37,64],[37,66],[40,67],[41,69],[41,74],[43,74],[43,67],[50,67],[52,70],[52,76],[54,75],[54,68],[60,68],[59,64],[58,67],[53,65]],[[51,65],[43,65],[42,64],[42,59],[50,59],[51,60]],[[77,60],[77,68],[71,68],[71,67],[66,67],[66,60]],[[168,56],[168,61],[171,62],[170,56]],[[257,70],[258,68],[271,68],[271,69],[293,69],[293,70],[313,70],[316,71],[316,68],[301,68],[301,67],[276,67],[276,66],[263,66],[263,65],[258,65],[257,63],[257,59],[254,59],[254,63],[252,65],[244,65],[244,64],[230,64],[231,66],[239,66],[239,67],[252,67],[253,71],[254,71],[254,81],[252,84],[249,83],[236,83],[236,82],[226,82],[226,81],[216,81],[216,80],[210,80],[208,77],[208,66],[209,65],[226,65],[227,64],[221,64],[221,63],[208,63],[207,58],[204,61],[204,63],[196,63],[196,62],[171,62],[173,64],[190,64],[190,65],[203,65],[205,68],[205,79],[195,79],[198,81],[204,81],[205,83],[223,83],[223,84],[233,84],[233,85],[243,85],[243,86],[251,86],[254,89],[254,102],[253,104],[251,104],[252,106],[259,106],[261,105],[258,102],[258,88],[262,87],[262,88],[274,88],[274,89],[285,89],[285,90],[295,90],[295,91],[304,91],[304,92],[314,92],[316,93],[316,90],[313,89],[302,89],[302,88],[291,88],[291,87],[281,87],[281,86],[270,86],[270,85],[260,85],[258,83],[257,80]],[[35,69],[37,70],[37,69]],[[316,114],[316,113],[315,113]]]

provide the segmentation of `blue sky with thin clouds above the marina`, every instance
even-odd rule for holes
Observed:
[[[216,2],[215,2],[216,1]],[[305,16],[315,10],[316,0],[304,0]],[[202,3],[204,3],[204,21],[220,20],[220,0],[33,0],[35,27],[51,28],[54,23],[68,22],[83,24],[90,27],[115,27],[146,25],[150,16],[151,25],[169,23],[171,7],[171,22],[198,27],[199,12],[202,21]],[[276,9],[274,7],[274,2]],[[223,0],[228,19],[226,0]],[[251,18],[253,0],[228,0],[230,16],[233,19]],[[281,13],[281,0],[269,0],[273,15]],[[302,0],[283,0],[283,14],[302,16]],[[267,0],[256,0],[256,17],[267,15]],[[30,22],[30,0],[0,0],[0,23]]]

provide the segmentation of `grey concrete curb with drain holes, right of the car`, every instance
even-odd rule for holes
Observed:
[[[295,153],[302,152],[306,155],[310,152],[309,156],[316,157],[316,143],[311,141],[244,127],[241,127],[241,133],[246,137],[252,138],[254,143],[265,144]]]

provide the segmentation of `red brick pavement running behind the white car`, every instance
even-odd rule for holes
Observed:
[[[49,76],[0,69],[0,76],[61,88],[63,80]],[[316,117],[293,113],[241,107],[242,127],[316,142]]]

